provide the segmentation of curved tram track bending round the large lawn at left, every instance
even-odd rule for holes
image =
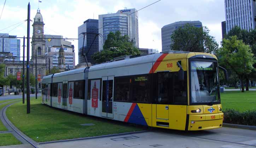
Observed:
[[[12,102],[12,101],[9,101],[9,102]],[[25,134],[23,134],[21,131],[19,131],[10,121],[9,119],[7,118],[5,112],[6,112],[6,109],[7,107],[13,105],[14,103],[17,103],[19,101],[16,101],[16,102],[13,102],[9,105],[6,105],[5,107],[3,107],[1,109],[1,115],[2,115],[2,122],[5,122],[4,125],[8,125],[9,127],[6,127],[7,129],[9,130],[12,130],[13,131],[13,135],[19,140],[21,141],[22,143],[24,143],[24,141],[28,142],[31,146],[33,146],[34,148],[38,148],[36,146],[36,142],[34,142],[33,140],[31,140],[29,137],[25,136]],[[11,128],[11,129],[10,129]],[[17,134],[17,135],[15,135]]]

